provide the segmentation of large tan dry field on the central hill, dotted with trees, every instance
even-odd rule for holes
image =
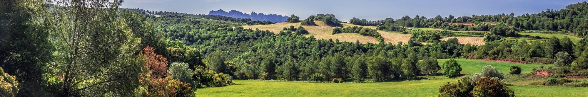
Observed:
[[[339,41],[348,41],[348,42],[355,42],[356,40],[359,40],[360,43],[368,43],[368,42],[369,43],[379,43],[379,42],[377,42],[375,37],[362,36],[358,33],[332,34],[333,29],[335,27],[326,25],[324,22],[318,21],[318,20],[315,20],[315,23],[316,23],[316,26],[302,26],[306,30],[308,30],[308,32],[310,33],[305,36],[307,36],[307,37],[314,36],[316,39],[333,39],[333,40],[339,39]],[[341,24],[343,25],[343,27],[360,26],[360,25],[353,25],[351,23],[341,23]],[[243,28],[269,30],[270,32],[273,32],[273,33],[279,33],[280,30],[283,29],[283,27],[290,27],[290,26],[298,27],[298,26],[300,26],[300,23],[283,22],[283,23],[275,23],[275,24],[271,24],[271,25],[250,25],[250,26],[248,25],[248,26],[243,26]],[[371,29],[376,29],[375,26],[360,26],[360,27],[368,27]],[[410,39],[410,34],[392,33],[392,32],[385,32],[385,31],[381,31],[381,30],[379,30],[378,32],[382,35],[382,37],[384,38],[384,40],[386,42],[390,42],[393,44],[396,44],[399,41],[406,43]]]

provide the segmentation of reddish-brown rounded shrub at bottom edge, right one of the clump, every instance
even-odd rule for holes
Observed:
[[[480,78],[472,90],[473,96],[515,96],[512,89],[498,79],[489,77]]]

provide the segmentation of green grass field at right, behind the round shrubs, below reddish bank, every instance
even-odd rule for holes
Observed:
[[[439,59],[439,65],[443,65],[443,62],[449,59]],[[522,73],[527,73],[533,71],[533,67],[541,67],[540,64],[518,64],[518,63],[505,63],[505,62],[497,62],[497,61],[483,61],[483,60],[466,60],[465,58],[456,58],[455,59],[459,65],[462,66],[462,72],[466,74],[473,74],[480,72],[482,68],[486,65],[492,65],[493,67],[498,68],[505,74],[509,74],[510,65],[519,65],[520,68],[523,68]],[[553,67],[553,64],[543,64],[544,67]]]

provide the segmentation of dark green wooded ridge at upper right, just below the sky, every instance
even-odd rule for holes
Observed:
[[[472,15],[472,16],[455,16],[449,15],[448,17],[442,18],[436,16],[435,18],[427,19],[424,16],[415,16],[410,18],[404,16],[396,23],[405,27],[429,27],[445,30],[463,30],[463,31],[491,31],[495,27],[503,27],[507,29],[506,32],[513,29],[515,31],[521,31],[522,29],[528,30],[549,30],[549,31],[570,31],[578,37],[586,37],[588,35],[588,22],[583,20],[586,18],[586,12],[588,8],[588,2],[579,2],[577,4],[570,4],[566,8],[560,11],[554,11],[553,9],[547,9],[540,13],[519,15],[515,17],[514,13],[505,15]],[[480,22],[480,23],[479,23]],[[481,22],[493,22],[498,25],[492,26]],[[475,23],[475,26],[465,25],[449,25],[449,23]],[[500,25],[503,24],[503,25]],[[498,28],[500,29],[500,28]],[[493,32],[494,33],[494,32]],[[513,34],[500,34],[500,36],[516,37]]]

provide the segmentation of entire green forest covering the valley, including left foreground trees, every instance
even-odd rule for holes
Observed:
[[[505,74],[490,65],[464,76],[456,60],[467,58],[553,64],[550,82],[588,77],[588,40],[550,37],[507,40],[523,30],[570,32],[586,37],[587,2],[554,11],[515,16],[472,15],[349,23],[332,14],[285,22],[334,26],[332,34],[359,33],[379,43],[316,39],[303,26],[269,30],[243,25],[273,22],[226,16],[121,8],[122,0],[48,2],[8,0],[0,4],[0,96],[197,96],[198,89],[236,85],[235,79],[305,82],[390,82],[460,78],[439,88],[439,96],[515,96]],[[471,23],[475,26],[449,25]],[[491,23],[497,23],[492,25]],[[452,32],[406,27],[485,31],[485,45],[460,44]],[[406,43],[385,42],[378,30],[411,33]],[[426,42],[426,43],[422,43]],[[543,66],[542,66],[543,67]],[[521,74],[511,67],[510,74]],[[563,85],[563,84],[562,84]],[[588,84],[582,84],[584,87]],[[581,86],[581,85],[580,85]],[[495,92],[487,92],[495,91]]]

